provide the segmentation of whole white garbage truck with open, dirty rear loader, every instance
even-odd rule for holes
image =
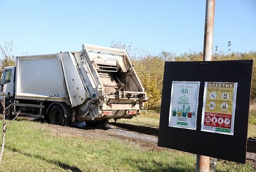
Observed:
[[[6,118],[45,118],[54,125],[139,115],[147,97],[125,50],[82,45],[79,52],[16,57],[0,82]]]

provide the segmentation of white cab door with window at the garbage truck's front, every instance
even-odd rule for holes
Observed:
[[[3,96],[3,93],[6,97],[13,96],[13,71],[12,68],[3,71],[0,96]]]

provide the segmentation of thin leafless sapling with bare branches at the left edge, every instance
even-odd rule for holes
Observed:
[[[14,117],[11,121],[9,121],[8,123],[6,123],[5,121],[5,110],[11,107],[11,104],[8,107],[5,107],[5,94],[3,93],[3,100],[1,100],[1,104],[3,107],[3,133],[2,133],[2,146],[1,146],[1,151],[0,151],[0,164],[3,158],[3,151],[5,148],[5,132],[7,129],[7,126],[11,124],[11,122],[13,122],[19,115],[20,111],[17,113],[16,117]]]

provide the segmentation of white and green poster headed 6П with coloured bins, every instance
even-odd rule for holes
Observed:
[[[169,127],[196,130],[200,82],[173,81]]]

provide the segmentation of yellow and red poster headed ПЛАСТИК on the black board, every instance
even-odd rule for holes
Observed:
[[[205,82],[201,131],[234,135],[237,83]]]

